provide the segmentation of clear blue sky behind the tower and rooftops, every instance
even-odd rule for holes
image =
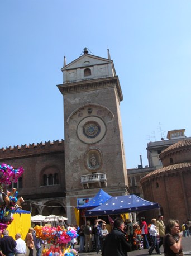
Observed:
[[[0,148],[64,139],[56,85],[85,46],[109,48],[120,78],[127,168],[168,130],[191,136],[190,13],[188,0],[1,1]]]

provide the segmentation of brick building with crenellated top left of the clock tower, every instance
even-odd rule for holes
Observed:
[[[18,195],[25,200],[22,205],[24,210],[30,210],[30,202],[34,200],[42,202],[42,200],[52,201],[52,198],[59,198],[60,202],[64,202],[66,190],[64,153],[64,140],[0,149],[0,164],[12,165],[15,169],[22,166],[24,169],[22,187],[18,188]],[[55,173],[58,181],[50,186],[44,185],[44,174],[54,176]],[[49,214],[52,214],[56,208],[47,209],[50,211]],[[64,214],[64,211],[60,214]]]

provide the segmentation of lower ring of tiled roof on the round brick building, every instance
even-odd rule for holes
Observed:
[[[154,170],[153,172],[144,176],[141,179],[141,183],[143,181],[145,181],[146,179],[148,179],[148,178],[156,176],[157,174],[167,173],[167,172],[170,172],[170,171],[173,171],[173,170],[176,171],[176,170],[180,170],[180,169],[183,169],[183,168],[190,168],[190,170],[191,170],[191,161],[190,162],[179,163],[179,164],[173,164],[173,165],[169,165],[169,166],[160,168],[158,170]]]

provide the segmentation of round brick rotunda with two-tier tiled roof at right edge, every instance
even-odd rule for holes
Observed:
[[[160,154],[163,168],[141,179],[144,198],[160,204],[165,221],[191,219],[191,140],[182,140]],[[156,213],[157,215],[157,213]],[[146,212],[147,220],[152,217]]]

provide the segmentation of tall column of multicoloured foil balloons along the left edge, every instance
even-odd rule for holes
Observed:
[[[12,166],[7,164],[0,165],[0,230],[7,228],[7,225],[13,221],[13,213],[17,208],[22,208],[21,203],[24,202],[23,198],[17,198],[18,192],[16,188],[12,188],[11,192],[3,192],[3,185],[9,186],[12,182],[16,183],[18,178],[24,172],[23,168],[13,169]]]

